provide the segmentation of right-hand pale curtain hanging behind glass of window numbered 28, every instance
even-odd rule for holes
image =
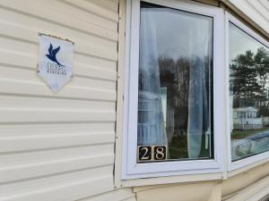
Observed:
[[[201,151],[208,149],[208,142],[203,143],[203,136],[210,131],[209,113],[209,71],[210,36],[199,34],[203,24],[195,21],[189,33],[189,97],[187,123],[187,152],[189,158],[201,157]],[[211,27],[209,26],[209,32]],[[204,147],[202,147],[204,144]],[[209,156],[209,155],[207,155]]]

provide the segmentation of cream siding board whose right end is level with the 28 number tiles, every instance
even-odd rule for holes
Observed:
[[[113,143],[107,146],[53,149],[0,155],[0,183],[113,165]]]

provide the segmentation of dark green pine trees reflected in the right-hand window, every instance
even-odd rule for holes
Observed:
[[[230,64],[230,91],[233,107],[265,104],[268,97],[269,53],[260,47],[257,53],[247,50]]]

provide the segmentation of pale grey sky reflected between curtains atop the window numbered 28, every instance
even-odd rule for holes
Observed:
[[[213,38],[211,17],[181,11],[173,12],[172,9],[164,8],[147,9],[147,12],[151,13],[155,22],[159,56],[171,57],[177,61],[179,57],[199,55],[201,47],[202,51],[208,51],[208,44]],[[196,52],[190,49],[195,38],[198,38]]]

